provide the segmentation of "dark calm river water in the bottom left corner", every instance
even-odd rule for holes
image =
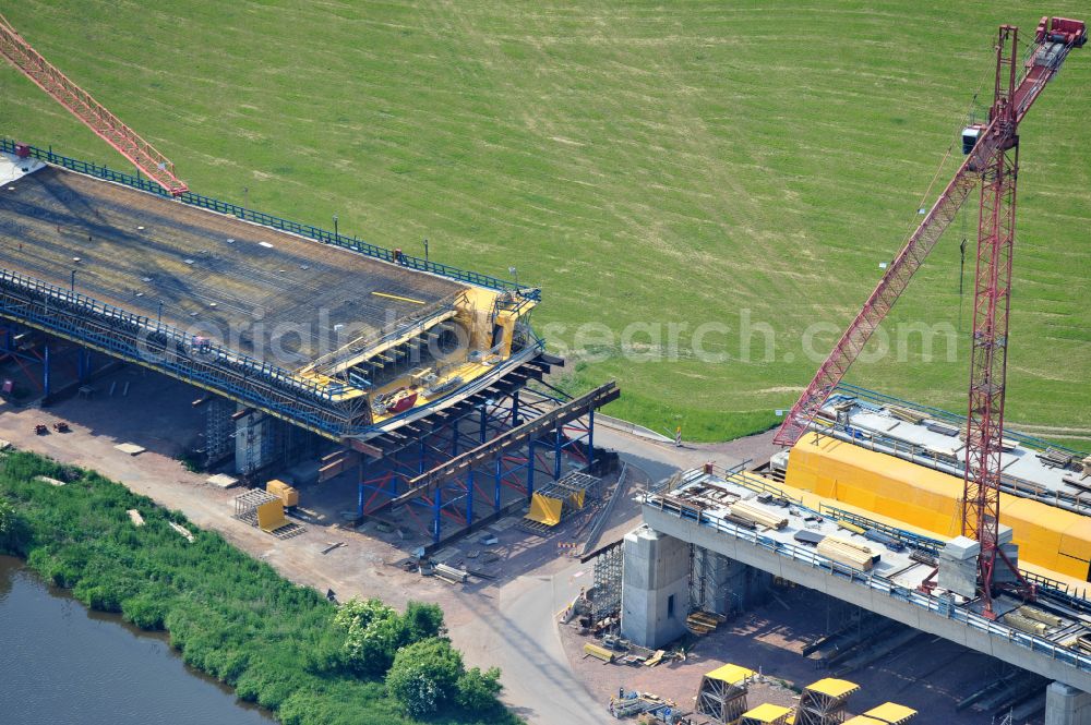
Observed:
[[[0,725],[269,725],[161,633],[88,612],[0,556]]]

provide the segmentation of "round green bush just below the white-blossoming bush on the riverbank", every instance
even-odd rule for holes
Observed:
[[[451,642],[432,637],[400,650],[386,674],[386,689],[411,717],[425,717],[454,700],[463,656]]]

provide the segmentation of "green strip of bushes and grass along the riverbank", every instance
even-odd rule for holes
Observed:
[[[398,613],[369,600],[338,608],[94,472],[25,452],[0,459],[0,552],[25,557],[93,609],[168,631],[187,664],[284,723],[518,722],[496,699],[500,673],[466,669],[439,607]]]

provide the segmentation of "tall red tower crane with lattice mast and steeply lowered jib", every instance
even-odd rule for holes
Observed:
[[[1017,77],[1018,29],[1010,25],[1000,26],[993,105],[987,124],[971,126],[963,132],[967,156],[962,166],[921,225],[910,234],[863,310],[838,340],[774,438],[780,445],[791,446],[811,428],[826,398],[904,291],[913,273],[924,263],[973,190],[980,189],[962,533],[981,544],[978,583],[986,615],[992,614],[992,583],[997,557],[1015,569],[1000,551],[997,535],[1019,123],[1045,85],[1060,70],[1068,52],[1084,43],[1087,26],[1083,22],[1043,17],[1023,63],[1022,76]],[[1018,571],[1016,575],[1018,577]]]

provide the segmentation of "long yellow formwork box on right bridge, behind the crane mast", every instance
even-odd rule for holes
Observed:
[[[961,529],[962,479],[826,436],[804,436],[789,455],[786,483],[940,536]],[[1020,564],[1088,581],[1091,518],[1000,493]]]

